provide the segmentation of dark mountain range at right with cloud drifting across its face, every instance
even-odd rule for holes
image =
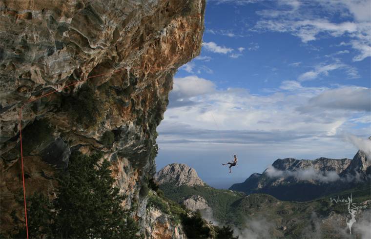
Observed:
[[[370,159],[362,151],[358,151],[353,160],[277,159],[262,174],[252,174],[245,182],[235,183],[229,189],[305,201],[368,183],[367,168],[370,168]]]

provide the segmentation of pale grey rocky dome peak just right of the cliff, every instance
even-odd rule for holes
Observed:
[[[156,180],[159,184],[174,183],[176,186],[206,185],[206,183],[198,177],[196,170],[183,163],[166,165],[156,174]]]

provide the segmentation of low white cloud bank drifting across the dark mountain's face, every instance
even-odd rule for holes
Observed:
[[[333,182],[336,180],[339,180],[339,175],[334,171],[329,172],[321,172],[316,171],[314,168],[310,167],[307,169],[299,169],[296,171],[290,171],[290,170],[278,170],[272,165],[269,165],[269,167],[265,170],[265,173],[270,178],[289,178],[294,177],[297,180],[315,180],[315,181],[321,181],[321,182]]]

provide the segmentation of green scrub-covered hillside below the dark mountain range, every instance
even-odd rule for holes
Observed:
[[[330,197],[347,198],[352,193],[355,203],[370,199],[370,187],[367,185],[305,202],[281,201],[267,194],[246,196],[236,191],[205,186],[175,187],[166,183],[160,188],[166,197],[176,202],[182,202],[191,195],[202,196],[213,209],[215,219],[241,229],[248,228],[252,220],[264,219],[269,224],[269,235],[277,238],[301,238],[306,227],[313,227],[313,217],[324,219],[331,212],[348,216],[344,203],[331,203]],[[287,226],[287,230],[281,230],[281,226]],[[331,236],[329,233],[328,237]]]

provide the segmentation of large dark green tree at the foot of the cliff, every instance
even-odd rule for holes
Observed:
[[[57,198],[52,206],[36,203],[35,197],[48,201],[44,196],[40,199],[39,194],[29,199],[31,238],[138,238],[136,222],[121,206],[124,196],[113,187],[110,163],[99,163],[100,159],[100,154],[72,154],[68,171],[58,177]]]

